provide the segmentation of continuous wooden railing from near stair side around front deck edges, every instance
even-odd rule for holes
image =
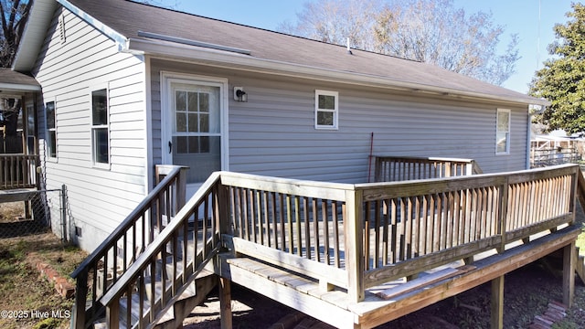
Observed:
[[[101,302],[111,327],[121,313],[127,323],[153,323],[213,255],[229,249],[324,290],[343,288],[359,302],[368,287],[571,224],[578,172],[559,165],[360,185],[214,173]],[[152,273],[165,279],[156,289]],[[138,302],[138,317],[133,290],[151,295],[149,304]]]

